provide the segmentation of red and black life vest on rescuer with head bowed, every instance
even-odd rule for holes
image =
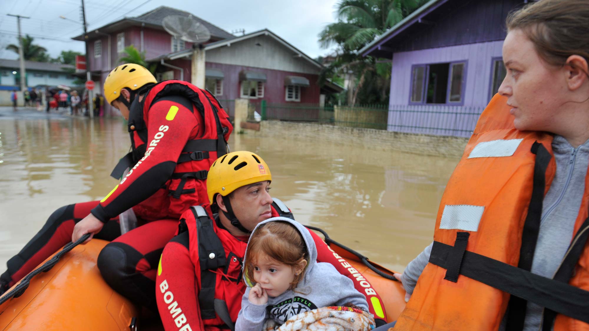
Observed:
[[[146,151],[147,127],[151,105],[164,97],[179,97],[178,102],[193,111],[202,125],[204,133],[197,139],[188,140],[170,180],[153,196],[133,209],[146,220],[178,219],[180,214],[199,204],[207,203],[206,178],[211,164],[227,153],[227,140],[233,125],[219,101],[207,90],[200,89],[185,81],[164,81],[148,87],[143,101],[135,97],[131,104],[128,131],[131,135],[132,151],[121,158],[111,176],[119,179],[127,167],[133,167]],[[202,132],[201,131],[201,132]]]

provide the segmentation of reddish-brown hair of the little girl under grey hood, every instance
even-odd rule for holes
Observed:
[[[254,282],[254,265],[260,253],[264,253],[277,262],[290,267],[298,267],[303,260],[308,259],[307,247],[303,236],[293,224],[285,221],[264,223],[256,229],[247,242],[247,256],[244,262],[246,276]],[[294,276],[292,287],[303,279],[305,272]]]

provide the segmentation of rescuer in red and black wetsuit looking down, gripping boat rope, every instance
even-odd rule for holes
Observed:
[[[8,262],[6,290],[68,241],[86,233],[112,240],[98,256],[102,276],[133,302],[155,308],[155,266],[178,229],[178,217],[207,201],[210,164],[226,153],[232,130],[219,102],[181,81],[157,84],[136,64],[115,68],[104,82],[107,101],[129,120],[133,151],[123,158],[127,176],[101,201],[59,208]],[[115,170],[116,171],[116,170]],[[137,229],[121,236],[118,215],[133,208]]]

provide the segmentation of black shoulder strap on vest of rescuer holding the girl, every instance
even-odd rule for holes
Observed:
[[[201,206],[190,207],[196,221],[198,262],[200,263],[200,291],[198,303],[203,319],[215,318],[215,283],[217,274],[211,272],[227,264],[223,244],[213,228],[213,221]]]

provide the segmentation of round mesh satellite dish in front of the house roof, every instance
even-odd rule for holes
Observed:
[[[209,41],[211,33],[203,24],[199,23],[192,15],[170,15],[163,19],[162,24],[168,34],[184,41],[193,42],[194,45]]]

